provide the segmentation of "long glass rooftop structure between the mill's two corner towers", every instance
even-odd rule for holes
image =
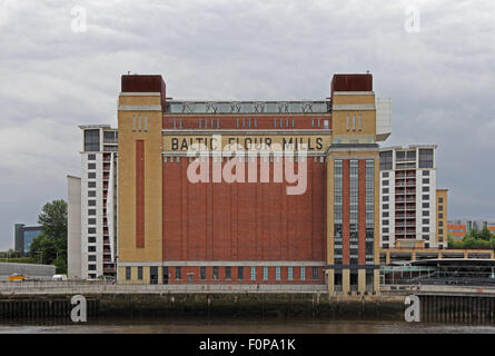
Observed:
[[[330,100],[195,101],[169,100],[166,113],[329,113]]]

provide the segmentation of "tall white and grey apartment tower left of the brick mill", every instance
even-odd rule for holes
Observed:
[[[68,274],[82,279],[116,277],[117,129],[79,128],[81,177],[68,176]]]

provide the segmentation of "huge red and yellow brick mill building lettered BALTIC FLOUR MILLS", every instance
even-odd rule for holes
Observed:
[[[369,73],[334,76],[330,95],[174,100],[161,76],[122,76],[118,281],[376,290],[389,102]]]

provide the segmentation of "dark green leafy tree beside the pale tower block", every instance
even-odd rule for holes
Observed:
[[[41,264],[55,265],[58,274],[67,273],[67,202],[47,202],[38,216],[42,233],[31,243],[31,258]]]

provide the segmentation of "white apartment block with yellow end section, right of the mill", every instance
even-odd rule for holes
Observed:
[[[380,248],[447,247],[447,189],[436,188],[435,150],[380,149]]]

